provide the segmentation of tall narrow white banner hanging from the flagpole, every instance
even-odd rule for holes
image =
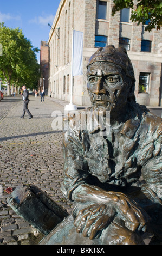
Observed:
[[[73,31],[73,76],[83,74],[83,32]]]

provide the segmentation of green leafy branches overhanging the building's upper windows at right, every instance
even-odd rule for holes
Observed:
[[[114,6],[112,15],[114,16],[116,11],[120,11],[123,8],[131,8],[130,19],[134,22],[147,26],[146,31],[151,31],[153,28],[160,29],[162,26],[162,1],[161,0],[137,0],[137,6],[134,5],[133,0],[114,0]]]

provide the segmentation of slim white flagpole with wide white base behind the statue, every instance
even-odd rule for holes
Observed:
[[[72,60],[71,60],[71,81],[70,81],[70,103],[69,105],[65,106],[65,110],[70,111],[70,110],[76,110],[77,107],[76,105],[73,104],[72,102],[72,96],[73,96],[73,55],[74,55],[74,28],[72,29]]]

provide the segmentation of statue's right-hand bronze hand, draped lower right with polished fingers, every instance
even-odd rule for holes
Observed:
[[[111,192],[112,195],[114,192]],[[114,205],[119,217],[124,220],[126,228],[132,231],[145,231],[146,224],[150,221],[147,212],[125,194],[115,193],[111,203]]]

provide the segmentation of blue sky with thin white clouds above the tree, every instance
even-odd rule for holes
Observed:
[[[0,3],[0,22],[10,28],[22,29],[25,38],[40,49],[41,41],[48,41],[50,25],[60,0],[3,0]],[[38,62],[40,56],[37,54]]]

